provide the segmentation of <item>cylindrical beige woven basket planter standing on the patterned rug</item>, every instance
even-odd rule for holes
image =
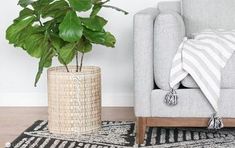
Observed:
[[[84,134],[101,127],[101,71],[98,67],[48,69],[48,128],[55,134]]]

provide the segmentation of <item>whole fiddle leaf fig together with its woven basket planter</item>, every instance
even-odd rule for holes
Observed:
[[[23,8],[6,31],[6,39],[39,59],[35,83],[44,68],[57,57],[63,65],[48,69],[49,130],[80,134],[96,130],[101,122],[100,68],[83,66],[92,44],[114,47],[116,39],[104,29],[107,20],[98,15],[112,8],[109,0],[19,0]],[[80,12],[90,12],[82,16]],[[79,55],[81,55],[79,63]],[[73,59],[76,66],[68,66]]]

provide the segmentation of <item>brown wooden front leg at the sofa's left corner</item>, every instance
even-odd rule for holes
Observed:
[[[137,129],[136,129],[137,144],[143,144],[144,143],[146,121],[147,120],[144,117],[138,117],[137,118]]]

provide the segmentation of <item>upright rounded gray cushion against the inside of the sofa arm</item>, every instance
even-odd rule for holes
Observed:
[[[184,22],[177,12],[167,11],[158,15],[154,25],[154,77],[161,89],[170,89],[172,59],[184,36]]]

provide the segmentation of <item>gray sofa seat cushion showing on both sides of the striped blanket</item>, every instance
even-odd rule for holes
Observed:
[[[182,85],[189,88],[199,88],[191,76],[187,76],[182,81]],[[222,70],[221,88],[235,89],[235,53]]]

